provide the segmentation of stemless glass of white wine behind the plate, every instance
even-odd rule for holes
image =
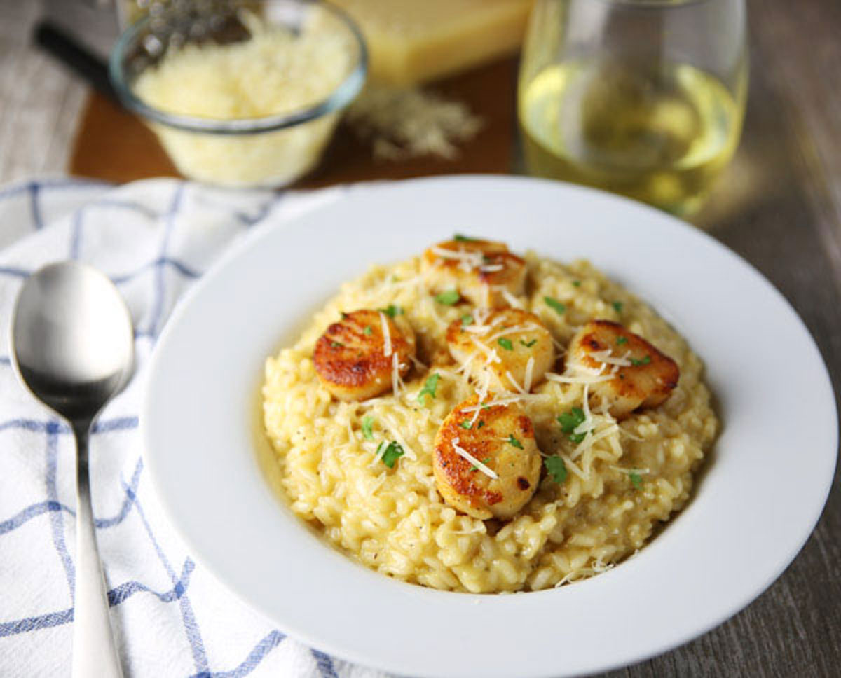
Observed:
[[[701,205],[738,145],[743,0],[538,0],[521,61],[528,171]]]

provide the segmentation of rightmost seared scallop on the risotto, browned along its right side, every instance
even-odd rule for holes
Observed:
[[[617,419],[658,407],[678,384],[677,364],[638,334],[609,320],[591,320],[569,344],[568,370],[610,376],[590,386],[595,404]]]

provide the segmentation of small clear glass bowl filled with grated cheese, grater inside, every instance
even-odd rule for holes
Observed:
[[[184,176],[278,187],[312,170],[362,89],[362,34],[296,0],[170,3],[131,25],[111,81]]]

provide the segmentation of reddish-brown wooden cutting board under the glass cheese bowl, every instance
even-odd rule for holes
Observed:
[[[516,60],[498,61],[428,86],[464,102],[483,128],[460,146],[454,160],[432,157],[374,160],[370,144],[340,124],[320,166],[296,187],[323,187],[351,181],[513,169],[516,146]],[[123,183],[151,176],[179,176],[151,130],[133,114],[93,92],[88,97],[71,151],[71,174]]]

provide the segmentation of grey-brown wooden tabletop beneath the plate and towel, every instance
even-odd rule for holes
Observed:
[[[25,4],[28,8],[22,9],[24,3],[13,7],[12,0],[0,0],[0,58],[15,59],[17,67],[38,76],[50,92],[43,87],[23,92],[15,87],[8,69],[0,69],[0,181],[66,170],[66,159],[74,152],[72,130],[78,132],[82,110],[81,86],[20,39],[40,3]],[[817,340],[837,390],[841,384],[841,3],[748,0],[748,8],[752,63],[742,145],[694,221],[755,265],[791,302]],[[513,70],[508,77],[513,77]],[[506,87],[513,87],[513,82]],[[86,115],[92,107],[95,103],[89,102]],[[513,124],[509,113],[497,124]],[[513,129],[496,129],[505,139],[515,138]],[[509,143],[500,144],[501,138],[495,137],[498,149]],[[28,142],[25,149],[19,139]],[[77,152],[80,146],[76,145]],[[501,153],[484,167],[421,166],[415,171],[395,168],[392,174],[505,171],[506,163],[508,171],[516,171],[516,154]],[[73,166],[85,171],[87,162],[86,173],[96,173],[90,170],[91,160],[82,154]],[[388,176],[388,170],[383,172]],[[357,171],[355,176],[362,178],[364,173]],[[745,322],[750,322],[749,314]],[[780,360],[796,356],[780,355]],[[807,423],[791,424],[791,463],[796,464],[797,428]],[[812,537],[758,600],[701,638],[609,675],[841,675],[837,486],[838,474]],[[780,497],[780,502],[789,501]],[[738,566],[733,563],[734,569]],[[566,623],[575,623],[574,610],[558,611],[558,633],[563,633]]]

